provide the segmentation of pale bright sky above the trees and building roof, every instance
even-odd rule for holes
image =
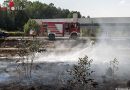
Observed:
[[[4,0],[0,0],[2,3]],[[56,7],[79,11],[90,17],[130,17],[130,0],[30,0],[54,3]]]

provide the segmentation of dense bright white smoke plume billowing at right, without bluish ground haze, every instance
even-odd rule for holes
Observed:
[[[120,23],[120,20],[117,19],[117,22]],[[118,74],[129,76],[129,26],[120,26],[119,24],[107,26],[103,24],[100,25],[100,28],[101,34],[97,37],[98,40],[94,45],[91,44],[93,41],[90,39],[85,42],[82,40],[56,41],[55,48],[46,53],[38,54],[38,59],[35,62],[75,63],[78,58],[87,55],[89,59],[93,59],[94,68],[97,68],[96,71],[102,75],[110,66],[110,61],[116,58],[119,61]]]

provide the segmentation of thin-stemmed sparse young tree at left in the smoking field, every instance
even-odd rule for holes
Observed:
[[[16,61],[17,71],[19,75],[31,78],[33,63],[37,59],[36,53],[41,53],[40,48],[43,46],[43,41],[38,40],[36,37],[32,41],[25,40],[23,37],[19,40],[17,55],[19,59]]]

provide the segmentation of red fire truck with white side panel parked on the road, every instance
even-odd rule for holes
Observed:
[[[80,25],[74,22],[42,22],[42,31],[47,33],[50,40],[56,37],[78,38],[80,35]]]

